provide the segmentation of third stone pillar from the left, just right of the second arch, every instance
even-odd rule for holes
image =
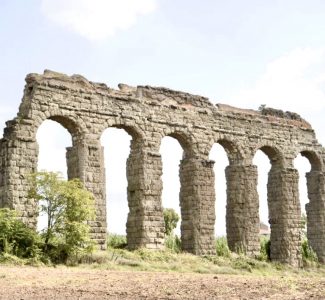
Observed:
[[[126,232],[129,249],[164,247],[161,175],[160,154],[141,145],[132,145],[127,160],[129,214]]]

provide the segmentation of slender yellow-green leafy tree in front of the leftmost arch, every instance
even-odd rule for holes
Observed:
[[[66,261],[92,251],[87,221],[94,218],[94,197],[80,180],[66,181],[58,173],[38,172],[31,175],[30,182],[29,197],[47,216],[42,233],[44,253],[51,259]]]

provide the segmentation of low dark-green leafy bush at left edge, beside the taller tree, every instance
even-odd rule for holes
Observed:
[[[40,255],[40,247],[38,234],[18,220],[15,211],[0,209],[0,252],[31,258]]]

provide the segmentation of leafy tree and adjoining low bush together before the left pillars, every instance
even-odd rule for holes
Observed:
[[[95,215],[93,195],[79,180],[58,173],[32,174],[30,183],[28,200],[47,215],[47,227],[38,233],[15,211],[0,209],[0,261],[76,264],[95,247],[87,223]]]

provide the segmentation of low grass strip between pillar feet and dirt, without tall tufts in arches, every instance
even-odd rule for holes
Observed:
[[[175,253],[169,249],[152,251],[139,249],[108,249],[85,256],[81,260],[82,267],[93,267],[110,270],[136,270],[154,272],[180,272],[201,274],[314,274],[325,276],[325,266],[308,266],[295,269],[249,258],[244,255],[229,253],[224,256],[195,256],[188,253]],[[309,276],[309,275],[308,275]]]

